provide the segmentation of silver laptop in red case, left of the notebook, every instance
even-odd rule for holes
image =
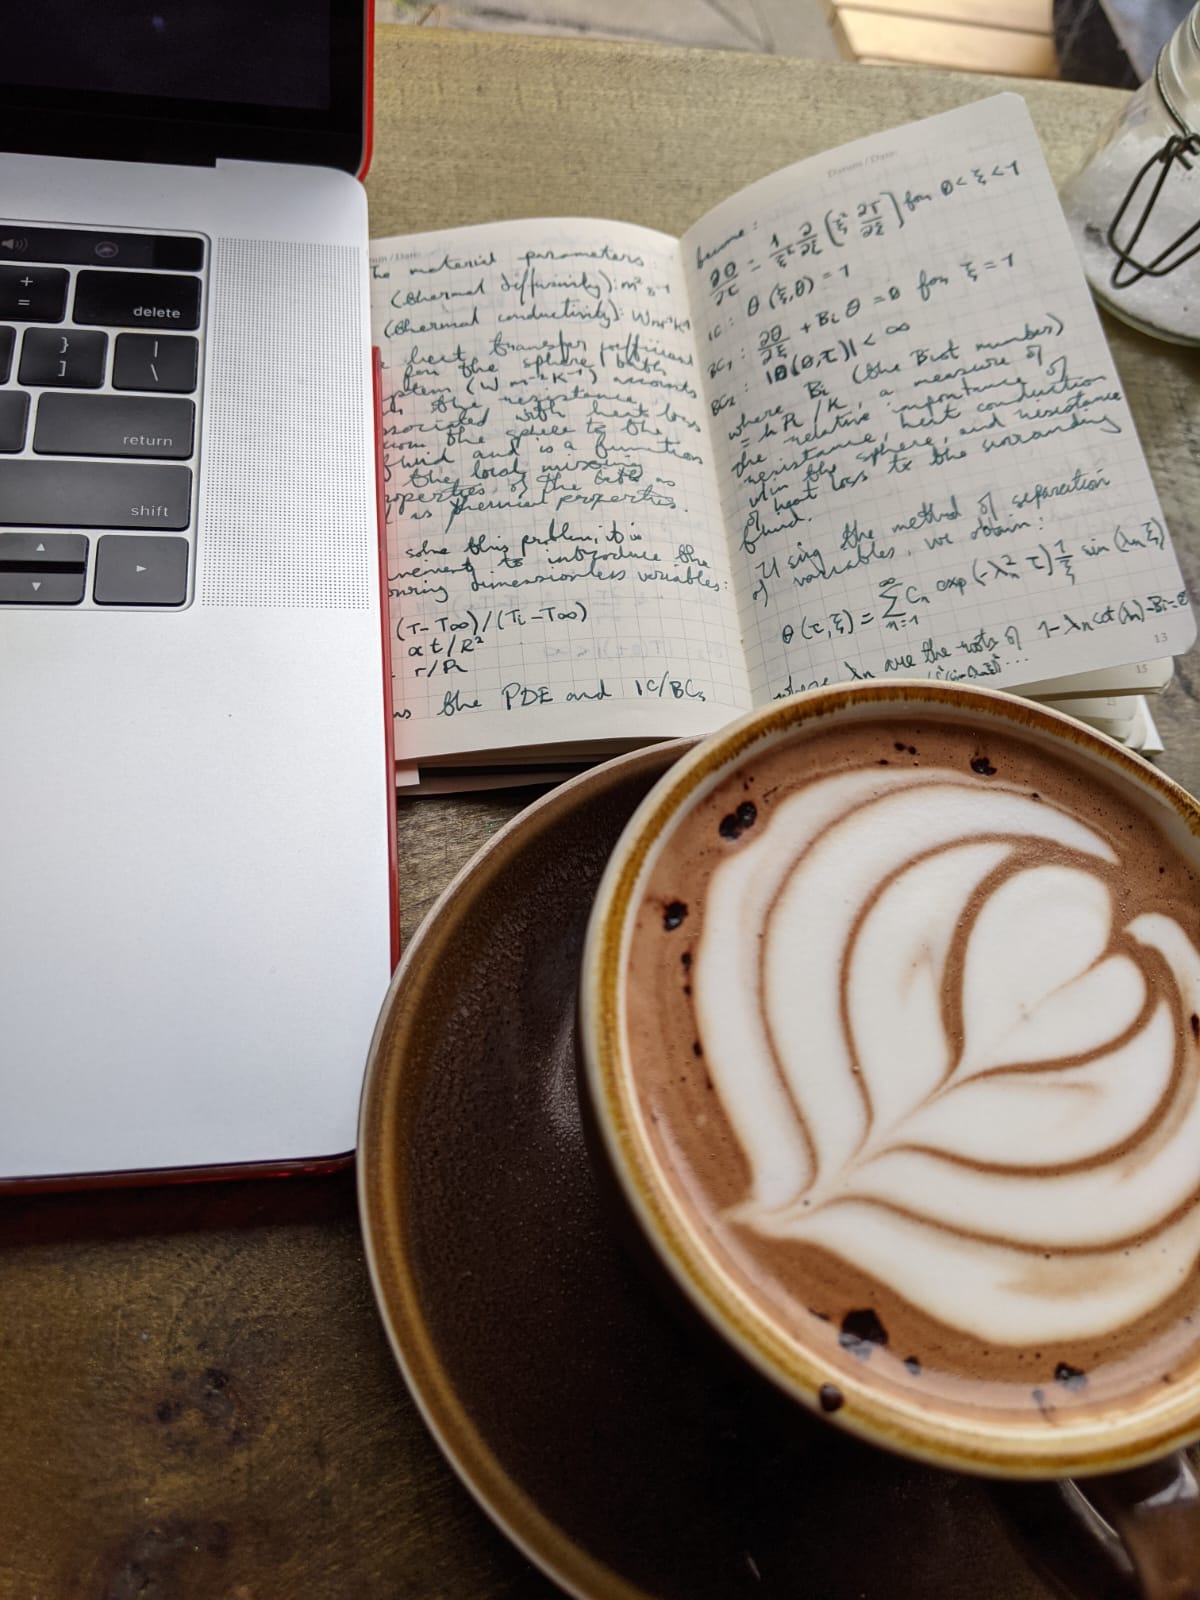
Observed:
[[[0,1186],[347,1158],[395,954],[363,0],[0,59]]]

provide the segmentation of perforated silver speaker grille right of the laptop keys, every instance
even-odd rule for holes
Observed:
[[[360,270],[347,245],[216,240],[200,605],[371,603]]]

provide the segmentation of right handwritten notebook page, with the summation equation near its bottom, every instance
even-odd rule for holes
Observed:
[[[755,701],[1192,643],[1019,96],[766,178],[682,246]]]

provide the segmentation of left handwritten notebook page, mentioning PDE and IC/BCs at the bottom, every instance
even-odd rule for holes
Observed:
[[[746,710],[677,242],[498,222],[371,272],[397,760]]]

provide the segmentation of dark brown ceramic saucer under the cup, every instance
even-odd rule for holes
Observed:
[[[410,1389],[480,1504],[586,1600],[1058,1594],[982,1482],[800,1414],[677,1323],[613,1237],[579,1120],[576,971],[608,851],[685,747],[523,811],[397,971],[358,1194]],[[1024,1531],[1045,1493],[1011,1491]],[[1101,1574],[1086,1592],[1125,1590]]]

